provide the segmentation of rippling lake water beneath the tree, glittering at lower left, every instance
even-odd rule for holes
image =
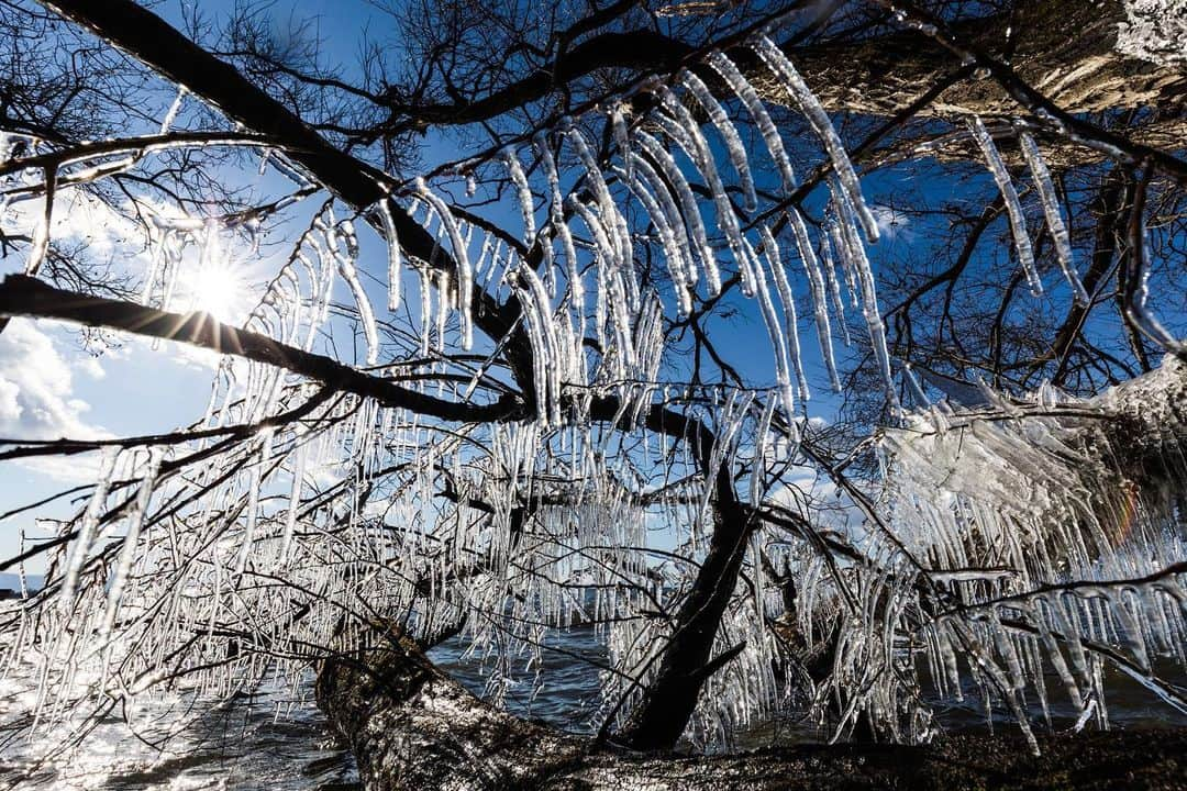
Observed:
[[[510,685],[503,704],[514,713],[545,723],[590,733],[597,727],[598,671],[573,655],[604,659],[604,648],[592,630],[573,630],[554,639],[557,651],[545,651],[540,666],[548,685],[535,690],[531,680]],[[465,657],[464,645],[453,640],[431,657],[476,694],[483,694],[497,668]],[[1174,674],[1170,674],[1172,677]],[[1187,726],[1187,716],[1157,703],[1138,684],[1113,680],[1109,696],[1111,722],[1123,728]],[[1054,680],[1053,680],[1054,682]],[[1058,683],[1058,682],[1056,682]],[[0,720],[30,703],[30,684],[0,682]],[[972,690],[970,690],[972,691]],[[52,734],[30,744],[0,747],[0,789],[72,791],[110,789],[120,791],[347,791],[360,789],[350,754],[334,740],[329,723],[311,700],[306,684],[294,698],[291,690],[262,689],[233,704],[202,712],[180,733],[160,746],[151,746],[129,734],[120,717],[108,717],[83,747],[52,763],[38,765],[36,755],[65,734]],[[1075,712],[1058,700],[1052,685],[1052,716],[1056,728],[1066,728]],[[174,701],[177,704],[179,701]],[[278,710],[281,712],[278,716]],[[1037,706],[1032,710],[1039,714]],[[998,721],[1008,717],[995,716]],[[938,707],[947,729],[985,727],[980,698],[970,695],[963,703]],[[135,721],[135,716],[132,717]],[[1002,722],[1002,727],[1013,727]],[[798,741],[824,734],[798,723],[769,723],[738,739],[740,747]]]

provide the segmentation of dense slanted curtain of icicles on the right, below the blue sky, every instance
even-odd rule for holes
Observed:
[[[1090,717],[1107,725],[1105,671],[1187,713],[1181,688],[1159,675],[1187,668],[1187,536],[1176,505],[1187,481],[1185,375],[1168,356],[1092,401],[1043,388],[1030,404],[954,414],[941,403],[887,433],[887,511],[901,546],[887,548],[899,579],[884,582],[883,629],[916,645],[941,694],[963,700],[971,676],[986,709],[1004,706],[1032,745],[1035,706],[1050,722],[1052,674],[1077,727]],[[1144,436],[1126,433],[1112,440],[1125,447],[1112,446],[1102,428],[1110,415],[1140,420],[1130,425]],[[1156,448],[1164,477],[1144,485],[1115,461],[1143,444]],[[900,646],[887,649],[884,663]],[[894,713],[886,703],[872,710]]]

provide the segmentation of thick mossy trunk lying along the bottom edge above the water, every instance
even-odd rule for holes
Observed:
[[[497,712],[382,627],[325,661],[318,704],[368,791],[774,791],[795,789],[1176,787],[1187,733],[1014,736],[932,747],[801,745],[712,757],[626,753]]]

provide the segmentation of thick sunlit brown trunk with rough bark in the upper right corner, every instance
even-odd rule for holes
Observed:
[[[1162,38],[1178,40],[1187,52],[1187,39],[1174,20],[1148,19]],[[1134,143],[1174,151],[1187,139],[1187,56],[1160,62],[1136,57],[1123,0],[1018,0],[1013,13],[958,21],[952,30],[972,44],[1009,63],[1039,93],[1073,113],[1144,110],[1118,132]],[[819,44],[789,49],[805,81],[833,113],[895,117],[928,88],[940,84],[960,68],[953,56],[921,32],[904,30],[852,44]],[[785,89],[757,63],[748,65],[768,101],[789,103]],[[758,77],[766,75],[766,81]],[[794,103],[792,103],[794,106]],[[916,117],[1014,117],[1026,115],[994,79],[960,79]],[[918,155],[914,138],[896,146],[904,155]],[[946,160],[979,160],[966,140],[940,139],[933,154]],[[1099,152],[1064,138],[1041,141],[1052,167],[1066,168],[1098,161]],[[1016,148],[1003,143],[1011,164],[1021,160]]]

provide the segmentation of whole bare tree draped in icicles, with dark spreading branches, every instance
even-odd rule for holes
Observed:
[[[0,562],[47,568],[0,613],[12,738],[312,672],[370,787],[681,787],[664,751],[792,713],[920,744],[972,694],[1039,751],[1118,674],[1187,712],[1183,81],[1131,40],[1182,42],[1147,5],[393,2],[338,71],[265,8],[5,4],[0,317],[222,355],[177,430],[0,438],[100,457]],[[150,263],[69,249],[72,196]],[[184,287],[230,250],[269,266],[235,320]],[[810,419],[830,387],[859,420]],[[499,706],[575,624],[589,738]],[[731,761],[696,771],[770,771]]]

